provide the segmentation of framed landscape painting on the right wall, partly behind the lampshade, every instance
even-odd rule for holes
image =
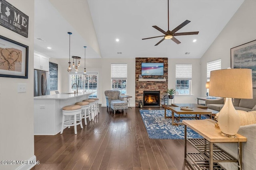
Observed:
[[[252,87],[256,88],[256,40],[230,49],[231,68],[251,68]]]

